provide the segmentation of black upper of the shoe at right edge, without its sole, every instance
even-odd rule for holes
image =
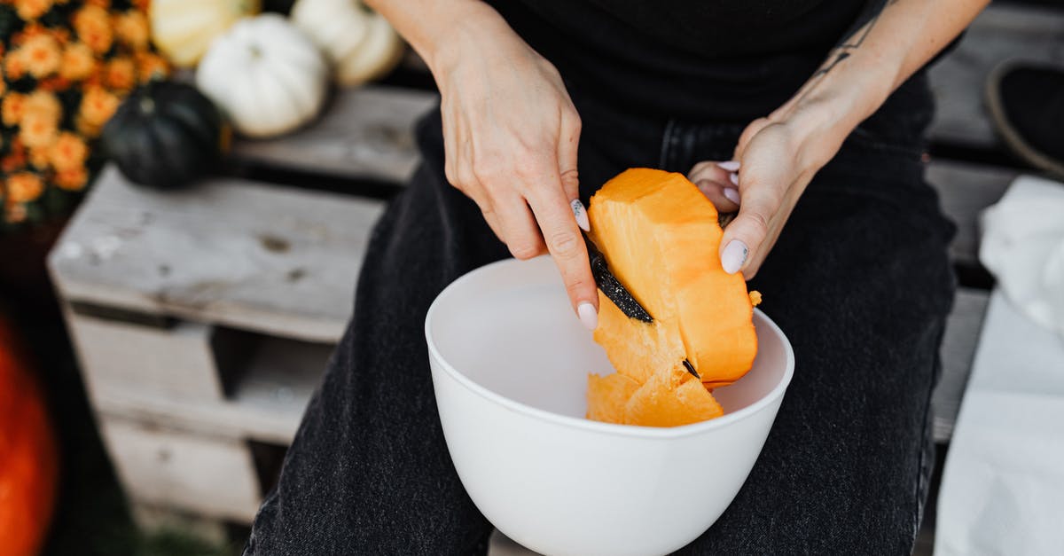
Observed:
[[[1064,164],[1064,70],[1017,66],[997,86],[1004,117],[1024,143]]]

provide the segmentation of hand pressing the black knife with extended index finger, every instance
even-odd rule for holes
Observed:
[[[442,95],[447,180],[517,259],[550,252],[588,328],[598,294],[579,226],[580,116],[558,70],[492,7],[453,2],[422,52]]]

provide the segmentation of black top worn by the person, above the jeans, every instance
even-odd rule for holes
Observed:
[[[572,86],[620,110],[749,121],[785,102],[883,2],[491,3]]]

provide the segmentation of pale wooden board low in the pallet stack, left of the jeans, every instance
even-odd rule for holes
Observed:
[[[117,419],[99,424],[118,477],[134,500],[218,519],[254,518],[262,493],[243,442]]]

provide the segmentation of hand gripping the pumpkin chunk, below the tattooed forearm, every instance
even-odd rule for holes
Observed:
[[[805,186],[842,144],[837,131],[816,125],[822,118],[789,108],[747,126],[734,160],[700,162],[688,173],[718,211],[738,210],[725,228],[720,263],[729,274],[742,271],[747,280],[765,261]]]

